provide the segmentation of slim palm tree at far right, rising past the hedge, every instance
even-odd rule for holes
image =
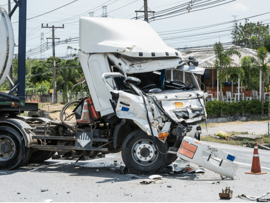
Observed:
[[[264,114],[264,83],[269,76],[270,67],[267,65],[267,62],[270,62],[270,58],[267,58],[267,49],[264,46],[261,46],[257,51],[257,57],[259,59],[258,65],[260,66],[260,70],[262,71],[262,94],[260,95],[262,101],[262,114]],[[268,60],[268,61],[267,61]],[[266,63],[265,63],[266,62]]]

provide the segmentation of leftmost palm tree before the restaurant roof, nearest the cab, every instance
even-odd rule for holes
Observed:
[[[222,95],[222,88],[223,88],[223,83],[225,82],[226,79],[226,74],[228,71],[232,71],[232,69],[229,69],[231,67],[231,59],[230,57],[233,55],[238,55],[240,57],[240,52],[237,49],[228,49],[228,50],[223,50],[223,46],[220,42],[215,42],[214,45],[214,53],[215,53],[215,61],[214,61],[214,68],[216,72],[218,73],[218,81],[220,84],[220,100],[222,100],[221,95]],[[239,68],[239,73],[242,72],[241,68]]]

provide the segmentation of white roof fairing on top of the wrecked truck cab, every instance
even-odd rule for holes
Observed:
[[[79,47],[86,53],[119,52],[131,57],[181,57],[146,21],[80,17]]]

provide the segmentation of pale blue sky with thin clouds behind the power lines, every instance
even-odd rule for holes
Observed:
[[[74,0],[27,0],[27,19],[35,17],[40,14],[44,14],[48,11],[59,8]],[[148,0],[148,9],[160,12],[165,9],[169,9],[182,4],[187,4],[191,0]],[[217,23],[224,23],[233,20],[233,15],[236,15],[236,19],[244,19],[255,15],[260,15],[269,12],[269,0],[224,0],[220,3],[212,4],[209,6],[201,7],[207,8],[214,5],[212,8],[204,10],[198,10],[194,8],[196,1],[206,0],[193,0],[192,6],[190,3],[190,11],[181,15],[170,17],[166,19],[160,19],[157,17],[160,14],[156,14],[155,21],[149,23],[149,25],[160,35],[164,42],[173,48],[194,47],[202,45],[212,45],[215,41],[221,43],[231,42],[231,29],[233,23],[226,23],[214,27],[200,29],[198,27],[214,25]],[[214,1],[214,0],[210,0]],[[231,1],[231,2],[230,2]],[[11,0],[11,10],[15,6],[13,0]],[[195,3],[194,3],[195,2]],[[229,2],[229,3],[227,3]],[[0,0],[0,5],[8,11],[8,0]],[[144,6],[143,0],[77,0],[63,8],[44,14],[40,17],[27,20],[26,29],[26,52],[30,58],[40,58],[40,53],[34,53],[31,50],[35,50],[41,43],[47,43],[46,38],[51,38],[52,31],[49,28],[41,28],[41,23],[44,26],[48,23],[48,26],[60,27],[64,24],[64,29],[56,29],[55,37],[61,40],[73,39],[79,37],[79,17],[89,16],[89,12],[94,12],[94,17],[100,17],[102,15],[102,6],[107,6],[108,18],[119,19],[132,19],[135,20],[135,10],[140,10]],[[121,8],[122,7],[122,8]],[[182,8],[186,8],[184,6]],[[144,10],[142,8],[141,10]],[[179,14],[179,13],[177,13]],[[11,22],[15,35],[15,43],[18,42],[18,16],[19,9],[12,15]],[[143,16],[143,13],[138,13],[137,16]],[[143,20],[143,18],[138,19]],[[263,21],[263,23],[270,23],[270,13],[253,17],[249,19],[251,22]],[[244,20],[240,22],[244,23]],[[266,24],[265,24],[266,25]],[[194,28],[194,29],[191,29]],[[177,30],[177,31],[174,31]],[[225,31],[224,31],[225,30]],[[168,32],[173,31],[173,32]],[[41,32],[44,33],[44,41],[41,41]],[[209,33],[208,32],[214,32]],[[170,39],[174,38],[174,39]],[[175,39],[176,38],[176,39]],[[57,40],[56,40],[57,41]],[[48,39],[48,45],[52,42]],[[67,46],[79,49],[79,41],[72,43],[59,44],[55,47],[56,56],[65,56],[66,54],[75,53],[75,50],[68,50]],[[14,53],[18,52],[18,47],[15,47]],[[40,52],[40,48],[35,52]],[[48,50],[44,48],[42,52],[43,57],[52,56],[52,48]]]

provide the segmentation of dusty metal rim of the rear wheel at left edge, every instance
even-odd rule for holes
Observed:
[[[8,136],[0,135],[0,160],[7,161],[15,154],[15,143]]]

